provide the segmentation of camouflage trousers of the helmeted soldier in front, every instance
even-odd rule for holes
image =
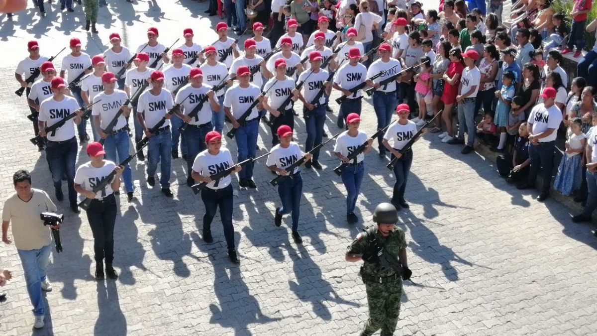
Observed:
[[[396,330],[400,314],[400,298],[402,297],[402,280],[395,282],[365,282],[369,319],[361,336],[370,336],[381,329],[381,336],[390,336]]]

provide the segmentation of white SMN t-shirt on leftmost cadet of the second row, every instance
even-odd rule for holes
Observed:
[[[79,109],[79,104],[76,99],[70,96],[64,96],[59,102],[54,99],[54,96],[45,99],[39,105],[39,121],[45,121],[45,126],[50,127],[56,124],[63,118],[75,113]],[[48,133],[47,138],[50,141],[64,141],[75,136],[75,122],[73,119],[67,120],[62,127],[56,130],[56,135]]]

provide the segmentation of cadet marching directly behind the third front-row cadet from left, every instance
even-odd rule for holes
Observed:
[[[265,98],[262,102],[263,108],[270,113],[270,120],[273,118],[270,126],[270,130],[272,130],[272,146],[280,142],[276,133],[280,126],[288,125],[290,129],[294,130],[293,105],[298,99],[297,85],[292,78],[286,75],[286,61],[284,59],[277,59],[274,63],[276,77],[267,81],[263,87]],[[284,111],[281,111],[280,107],[288,96],[292,96],[291,102],[286,106]]]

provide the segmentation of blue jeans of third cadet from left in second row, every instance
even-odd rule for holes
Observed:
[[[172,135],[170,129],[162,130],[158,135],[149,138],[149,164],[147,164],[147,176],[155,175],[158,163],[161,161],[161,176],[159,184],[162,188],[170,188],[170,150],[172,149]]]

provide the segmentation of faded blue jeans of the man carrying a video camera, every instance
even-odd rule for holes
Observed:
[[[21,258],[21,265],[23,265],[23,275],[25,276],[25,283],[27,284],[27,293],[29,293],[29,299],[33,305],[33,315],[35,316],[45,315],[45,304],[41,283],[45,281],[45,277],[48,275],[51,249],[51,244],[36,250],[17,249],[19,258]]]

